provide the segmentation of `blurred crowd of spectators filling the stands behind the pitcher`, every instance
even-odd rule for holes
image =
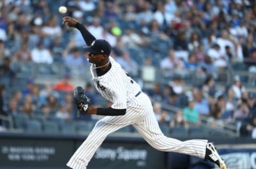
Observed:
[[[68,7],[67,14],[58,13],[61,5]],[[9,79],[0,87],[1,115],[37,115],[67,123],[92,120],[91,116],[77,118],[73,104],[73,75],[83,76],[82,68],[90,63],[79,31],[61,25],[61,18],[69,15],[96,38],[106,39],[113,46],[111,56],[132,77],[140,78],[139,66],[147,65],[161,69],[170,79],[145,90],[154,100],[160,124],[197,125],[204,116],[212,127],[241,122],[241,134],[256,138],[255,89],[249,92],[239,76],[224,91],[215,84],[233,64],[256,72],[253,1],[2,0],[0,9],[0,79]],[[15,86],[21,84],[13,62],[61,63],[66,69],[58,83],[38,84],[28,77],[17,90]],[[191,72],[197,76],[196,84],[183,80]],[[250,76],[251,85],[255,79]],[[84,87],[92,103],[100,104],[92,85]],[[180,110],[170,112],[163,104]],[[4,121],[0,126],[0,131],[8,127]]]

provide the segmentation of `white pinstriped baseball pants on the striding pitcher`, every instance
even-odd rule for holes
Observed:
[[[141,136],[157,150],[204,158],[207,140],[180,141],[167,138],[158,126],[148,96],[141,93],[134,98],[134,101],[134,105],[127,108],[124,116],[106,116],[99,120],[87,139],[69,159],[67,166],[73,169],[85,169],[107,135],[127,125],[133,125]]]

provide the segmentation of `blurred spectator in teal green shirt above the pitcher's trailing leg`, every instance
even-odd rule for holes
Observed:
[[[186,122],[199,123],[199,112],[195,109],[193,98],[189,98],[188,107],[183,109],[183,118]]]

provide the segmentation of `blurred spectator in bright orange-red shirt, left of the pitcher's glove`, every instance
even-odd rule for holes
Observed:
[[[69,75],[69,74],[66,74],[66,75],[63,77],[62,81],[57,82],[57,83],[54,85],[53,89],[54,89],[55,91],[60,91],[60,92],[73,92],[73,90],[74,90],[74,85],[71,84],[71,82],[70,82],[70,75]]]

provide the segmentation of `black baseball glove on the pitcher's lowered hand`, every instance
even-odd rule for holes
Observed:
[[[91,99],[85,95],[85,90],[81,86],[77,86],[74,90],[74,100],[77,106],[77,116],[79,114],[85,115],[89,106],[91,105]]]

